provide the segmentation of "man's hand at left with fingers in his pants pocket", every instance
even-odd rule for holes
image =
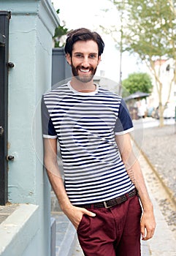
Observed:
[[[69,220],[72,222],[74,227],[77,230],[77,227],[80,224],[81,219],[83,218],[83,215],[86,214],[90,217],[95,217],[96,214],[94,214],[91,211],[86,210],[85,208],[80,208],[76,206],[70,206],[66,210],[64,210],[64,214],[69,218]]]

